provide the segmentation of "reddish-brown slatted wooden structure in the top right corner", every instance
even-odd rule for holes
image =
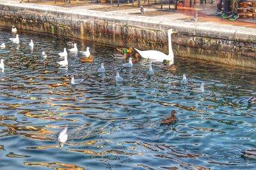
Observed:
[[[241,18],[252,17],[256,19],[256,0],[238,3],[238,15]]]

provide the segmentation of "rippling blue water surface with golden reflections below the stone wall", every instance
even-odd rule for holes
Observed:
[[[19,45],[0,29],[0,169],[253,169],[241,150],[256,148],[256,71],[175,58],[170,73],[148,60],[122,67],[115,48],[90,46],[92,63],[68,53],[68,69],[56,61],[70,39],[19,32]],[[30,39],[35,47],[28,46]],[[41,57],[42,51],[47,58]],[[98,74],[104,62],[106,74]],[[124,83],[115,83],[116,71]],[[179,81],[186,73],[189,84]],[[86,80],[70,85],[70,75]],[[205,83],[205,92],[191,90]],[[214,92],[214,96],[211,95]],[[245,102],[244,102],[245,101]],[[175,124],[161,120],[177,111]],[[58,133],[68,125],[63,148]]]

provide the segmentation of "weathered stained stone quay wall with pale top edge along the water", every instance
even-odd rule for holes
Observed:
[[[40,4],[0,4],[0,26],[87,39],[115,46],[168,53],[167,30],[175,57],[192,57],[234,66],[256,67],[256,29],[159,20],[102,11],[65,10]]]

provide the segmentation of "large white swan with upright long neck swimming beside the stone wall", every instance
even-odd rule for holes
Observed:
[[[163,62],[163,60],[170,60],[170,62],[174,62],[173,59],[173,52],[172,52],[172,34],[176,33],[176,31],[173,31],[173,29],[168,30],[168,47],[169,47],[169,54],[166,55],[163,52],[159,52],[156,50],[146,50],[146,51],[141,51],[138,50],[137,48],[134,48],[138,53],[140,53],[142,58],[145,59],[152,59],[152,60],[157,60],[160,62]]]

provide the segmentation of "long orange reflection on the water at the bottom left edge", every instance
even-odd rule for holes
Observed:
[[[57,170],[84,170],[84,167],[76,166],[75,164],[65,164],[60,162],[24,162],[26,166],[45,166]]]

